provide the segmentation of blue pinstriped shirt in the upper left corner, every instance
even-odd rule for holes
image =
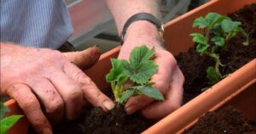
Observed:
[[[0,42],[56,49],[73,27],[64,0],[1,0]]]

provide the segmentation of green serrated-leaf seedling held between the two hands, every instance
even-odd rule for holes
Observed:
[[[149,81],[158,66],[151,60],[154,48],[135,47],[128,60],[111,59],[112,69],[106,76],[111,83],[113,95],[117,103],[125,103],[128,98],[143,94],[149,98],[164,100],[162,94],[152,87]],[[128,86],[128,87],[127,87]]]

